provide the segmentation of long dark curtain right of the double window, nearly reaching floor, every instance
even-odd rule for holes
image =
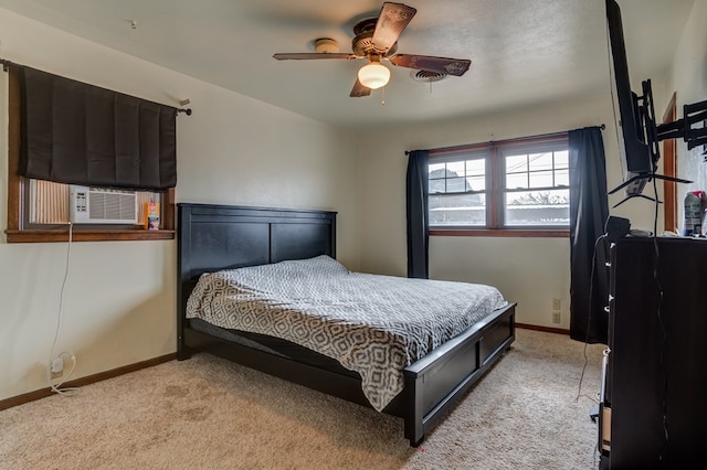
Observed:
[[[608,341],[609,259],[604,224],[609,216],[604,143],[598,127],[569,132],[570,157],[570,337]],[[595,252],[594,252],[595,249]],[[591,292],[590,292],[591,291]]]

